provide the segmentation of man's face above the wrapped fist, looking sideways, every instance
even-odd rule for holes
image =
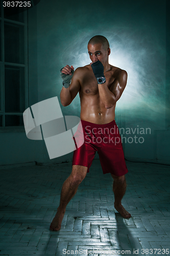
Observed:
[[[88,53],[92,62],[100,60],[103,65],[107,63],[110,54],[108,50],[103,49],[102,44],[88,44]]]

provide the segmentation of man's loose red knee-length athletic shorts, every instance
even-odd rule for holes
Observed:
[[[82,124],[82,129],[80,125]],[[74,151],[72,165],[82,165],[89,168],[96,152],[99,154],[103,174],[111,173],[122,176],[128,173],[118,127],[113,120],[106,124],[95,124],[81,120],[73,139],[84,143]],[[83,132],[83,134],[82,134]],[[75,140],[76,138],[76,140]]]

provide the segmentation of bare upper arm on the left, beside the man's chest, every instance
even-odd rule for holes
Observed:
[[[71,83],[69,86],[69,91],[71,94],[71,101],[76,97],[79,90],[81,89],[80,85],[80,68],[77,68],[72,76]]]

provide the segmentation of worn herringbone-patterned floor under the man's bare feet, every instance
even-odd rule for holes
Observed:
[[[58,232],[49,226],[71,163],[0,170],[0,255],[106,256],[134,250],[169,255],[170,166],[127,162],[127,167],[123,205],[132,218],[125,220],[114,210],[113,179],[94,160]]]

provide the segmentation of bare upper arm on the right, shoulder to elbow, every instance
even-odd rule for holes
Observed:
[[[115,95],[116,101],[120,98],[123,91],[125,90],[127,77],[127,72],[125,70],[121,70],[109,89]]]

